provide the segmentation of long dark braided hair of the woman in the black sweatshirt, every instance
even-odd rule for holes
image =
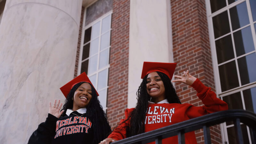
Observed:
[[[67,99],[65,100],[65,104],[63,105],[64,112],[61,116],[66,115],[67,109],[73,108],[73,100],[76,89],[83,83],[86,82],[80,82],[73,86],[73,88],[68,93]],[[90,83],[88,83],[90,84]],[[96,95],[96,91],[92,84],[90,84],[92,87],[92,99],[90,100],[89,104],[86,107],[86,114],[90,121],[92,122],[93,127],[93,143],[98,144],[101,140],[104,140],[107,138],[107,136],[111,132],[111,128],[109,126],[109,122],[107,121],[108,117],[106,116],[106,113],[103,111],[100,101]],[[63,110],[62,109],[62,110]]]

